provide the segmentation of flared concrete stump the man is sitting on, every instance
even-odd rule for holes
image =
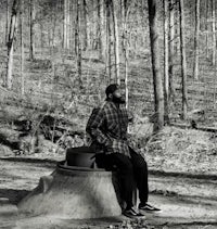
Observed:
[[[40,178],[38,187],[20,202],[18,209],[74,219],[122,214],[111,171],[66,166],[64,162],[50,176]]]

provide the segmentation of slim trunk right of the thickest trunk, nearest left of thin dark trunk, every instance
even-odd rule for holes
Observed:
[[[175,87],[174,87],[174,34],[175,34],[175,2],[169,0],[169,103],[174,100],[175,97]]]

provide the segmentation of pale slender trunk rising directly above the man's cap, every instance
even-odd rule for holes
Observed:
[[[118,25],[116,15],[116,4],[114,0],[111,0],[112,16],[113,16],[113,34],[114,34],[114,54],[115,54],[115,81],[120,84],[119,79],[119,36],[118,36]]]

